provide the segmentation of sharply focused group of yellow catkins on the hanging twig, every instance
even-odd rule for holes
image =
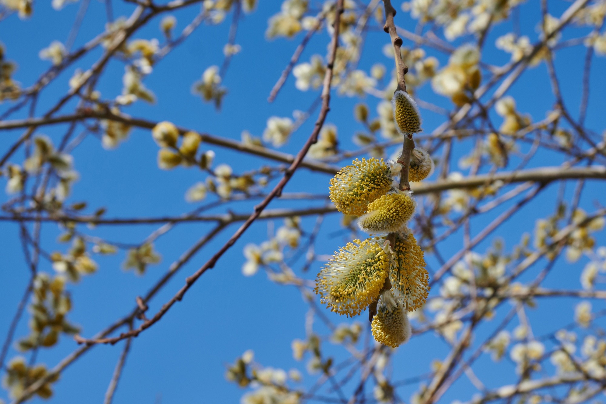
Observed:
[[[420,130],[421,119],[408,94],[396,91],[393,107],[403,134]],[[432,170],[427,151],[413,149],[410,180],[423,180]],[[322,303],[345,316],[376,304],[373,336],[394,348],[410,338],[407,313],[421,308],[429,293],[423,251],[407,227],[415,200],[410,191],[393,186],[393,177],[399,174],[398,164],[356,159],[330,180],[330,199],[337,210],[358,216],[361,230],[375,236],[353,240],[335,253],[318,274],[315,289]]]

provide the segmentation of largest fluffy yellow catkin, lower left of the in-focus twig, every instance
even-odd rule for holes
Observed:
[[[375,240],[353,240],[322,268],[315,292],[330,310],[357,316],[379,296],[389,261]]]

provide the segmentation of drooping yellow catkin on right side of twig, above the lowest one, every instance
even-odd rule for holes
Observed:
[[[429,294],[429,274],[425,269],[423,251],[410,231],[396,236],[393,248],[395,267],[391,267],[390,281],[398,300],[408,311],[421,308]]]

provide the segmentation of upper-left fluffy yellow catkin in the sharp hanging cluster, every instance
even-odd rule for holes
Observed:
[[[330,180],[330,200],[341,213],[361,216],[368,204],[391,188],[391,170],[383,159],[355,159]]]

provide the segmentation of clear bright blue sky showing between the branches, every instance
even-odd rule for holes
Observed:
[[[36,2],[32,18],[21,21],[11,16],[0,22],[0,40],[5,44],[7,59],[18,62],[19,69],[15,79],[24,87],[34,82],[44,71],[48,62],[40,61],[38,52],[47,47],[53,40],[64,42],[67,39],[70,27],[78,4],[69,4],[61,12],[50,7],[50,2]],[[553,1],[550,3],[552,15],[559,16],[569,2]],[[132,7],[115,2],[115,15],[130,15]],[[395,2],[399,8],[400,1]],[[267,19],[278,12],[278,1],[263,1],[258,9],[251,15],[244,16],[239,25],[236,43],[242,46],[242,51],[235,56],[230,70],[224,80],[229,93],[224,100],[222,110],[217,113],[212,105],[203,104],[199,98],[193,96],[190,87],[209,65],[220,65],[222,62],[222,48],[227,41],[230,16],[219,26],[203,26],[199,28],[185,44],[176,48],[168,58],[161,61],[154,73],[145,79],[145,85],[158,96],[155,105],[138,102],[132,107],[124,109],[133,116],[144,116],[151,119],[168,120],[188,128],[204,131],[218,136],[239,139],[243,130],[249,130],[260,136],[265,128],[268,116],[291,116],[293,110],[306,110],[316,98],[317,93],[310,91],[301,93],[294,87],[293,78],[288,79],[278,101],[267,103],[267,95],[278,79],[282,69],[301,39],[301,35],[294,40],[278,39],[266,41],[264,32]],[[537,38],[535,24],[539,21],[538,2],[524,5],[520,16],[522,33],[530,36],[534,41]],[[177,31],[180,31],[198,12],[198,7],[188,7],[175,13],[178,18]],[[399,13],[396,17],[398,24],[413,27],[413,22],[406,13]],[[162,38],[158,28],[159,19],[153,20],[135,38]],[[83,44],[102,31],[105,24],[104,5],[99,1],[92,1],[87,15],[79,31],[76,46]],[[494,50],[494,40],[498,36],[511,31],[511,22],[498,25],[487,39],[487,53],[483,59],[493,64],[504,64],[509,56]],[[564,38],[573,38],[584,31],[578,28],[569,28]],[[468,38],[467,38],[468,40]],[[463,38],[459,42],[465,42]],[[372,32],[368,35],[367,45],[362,55],[360,68],[367,70],[376,62],[382,62],[391,68],[393,62],[382,55],[381,47],[388,42],[388,37],[381,32]],[[317,35],[310,42],[301,60],[307,61],[311,55],[325,54],[328,36],[324,32]],[[435,54],[445,65],[447,58],[444,55],[427,50]],[[95,51],[77,66],[87,67],[100,55]],[[584,48],[565,50],[558,54],[556,67],[562,79],[564,96],[571,111],[578,110],[581,88],[581,68]],[[75,67],[77,67],[75,66]],[[38,102],[37,111],[45,111],[64,94],[67,81],[75,67],[68,68],[62,76],[53,82],[42,93]],[[605,59],[595,59],[594,72],[605,71]],[[121,92],[122,62],[110,62],[108,69],[99,82],[98,89],[105,98],[113,98]],[[590,109],[588,114],[588,127],[601,132],[605,127],[604,94],[606,82],[600,75],[594,75],[592,82]],[[520,111],[530,113],[533,121],[544,118],[545,111],[553,105],[550,84],[548,82],[545,65],[529,70],[519,80],[512,91],[518,102]],[[450,101],[435,96],[428,88],[419,91],[421,98],[450,108]],[[361,125],[354,121],[353,106],[358,99],[349,99],[340,96],[333,98],[331,111],[327,122],[339,127],[339,137],[343,148],[353,147],[351,136],[359,130]],[[376,116],[376,100],[367,99],[371,113]],[[2,111],[8,103],[0,105]],[[71,105],[73,107],[73,105]],[[70,111],[68,107],[64,111]],[[424,129],[430,133],[442,123],[442,118],[436,114],[423,111]],[[310,133],[315,121],[315,115],[303,125],[290,139],[282,150],[296,153]],[[500,124],[501,118],[496,117],[494,122]],[[38,132],[48,134],[55,142],[62,136],[65,127],[44,127]],[[5,150],[19,136],[20,131],[12,134],[4,133],[0,139],[0,148]],[[202,147],[206,147],[202,145]],[[468,153],[470,144],[459,143],[455,148],[455,156]],[[228,162],[236,172],[243,172],[258,167],[261,159],[250,156],[240,156],[233,151],[222,148],[213,148],[216,151],[216,163]],[[76,170],[81,173],[81,180],[76,184],[71,202],[88,200],[91,209],[107,207],[107,216],[161,216],[176,215],[191,210],[193,206],[184,200],[185,191],[195,182],[204,179],[204,175],[194,169],[178,168],[173,171],[159,170],[156,165],[157,145],[152,141],[150,133],[143,130],[133,130],[130,139],[113,151],[106,151],[101,147],[95,137],[88,137],[76,149],[74,154]],[[13,157],[13,161],[22,162],[21,154]],[[513,159],[515,165],[518,161]],[[542,153],[534,159],[531,165],[558,165],[561,157],[552,153]],[[512,166],[513,167],[513,166]],[[311,191],[321,193],[327,191],[328,176],[326,174],[313,174],[300,170],[286,191]],[[4,187],[4,180],[2,180]],[[594,202],[604,199],[604,183],[587,182],[587,192],[581,201],[586,210],[594,209]],[[568,200],[573,190],[573,184],[567,187]],[[540,197],[529,204],[521,213],[503,225],[495,236],[505,239],[507,248],[518,242],[524,231],[534,228],[534,219],[551,214],[557,185],[551,185]],[[310,205],[313,202],[308,203]],[[320,205],[321,202],[316,201]],[[304,203],[295,204],[291,201],[275,201],[271,207],[305,206]],[[548,208],[545,209],[545,206]],[[250,204],[234,204],[233,210],[238,212],[250,211]],[[477,232],[483,225],[493,219],[496,213],[491,213],[475,220],[472,230]],[[278,227],[281,222],[276,222]],[[306,219],[303,226],[307,230],[313,227],[313,220]],[[13,316],[16,304],[22,291],[27,285],[28,270],[24,265],[21,245],[18,239],[18,227],[3,222],[0,224],[0,335],[4,337],[5,329]],[[156,226],[142,225],[138,227],[99,227],[87,230],[90,234],[106,237],[112,241],[137,242],[144,239]],[[82,327],[84,336],[92,336],[100,329],[105,328],[119,317],[128,313],[135,302],[135,296],[145,293],[148,288],[164,273],[170,262],[188,248],[201,234],[210,228],[205,224],[180,225],[171,231],[167,237],[161,237],[156,248],[162,254],[162,262],[151,266],[143,277],[135,276],[132,272],[121,269],[124,253],[116,256],[99,257],[99,271],[93,276],[84,277],[77,285],[70,285],[74,308],[70,319]],[[318,240],[318,253],[326,254],[336,250],[344,243],[340,237],[328,237],[327,234],[339,228],[339,217],[329,217],[324,225],[324,233]],[[184,282],[185,276],[193,273],[211,253],[216,250],[227,237],[235,231],[232,226],[225,230],[215,241],[211,242],[198,253],[188,265],[182,268],[164,290],[151,303],[151,312],[158,310],[159,306],[175,293]],[[47,250],[65,251],[65,245],[55,242],[60,231],[47,225],[44,227],[42,238]],[[158,325],[145,331],[142,336],[134,340],[132,353],[128,357],[124,376],[120,382],[115,403],[155,403],[161,397],[163,404],[172,403],[235,403],[239,401],[242,391],[224,379],[225,365],[232,362],[246,349],[255,350],[255,359],[266,366],[284,369],[298,367],[304,371],[304,362],[296,362],[291,354],[290,342],[295,338],[304,338],[304,314],[307,305],[299,293],[290,287],[277,286],[259,273],[255,277],[245,278],[241,274],[241,265],[244,262],[242,248],[248,242],[261,242],[267,237],[267,223],[260,222],[245,234],[235,247],[226,254],[216,267],[204,274],[196,285],[191,288],[185,299],[178,303]],[[492,239],[493,237],[491,237]],[[598,240],[604,243],[603,234]],[[442,254],[448,256],[461,248],[461,237],[451,237],[451,242],[442,247]],[[488,244],[478,247],[478,251],[485,251]],[[436,262],[430,257],[428,262],[436,268]],[[579,275],[587,259],[581,259],[574,265],[568,265],[561,260],[550,278],[545,283],[553,287],[579,287]],[[310,270],[308,276],[313,277],[320,263]],[[530,276],[536,274],[542,267],[536,267]],[[50,264],[42,260],[41,271],[52,273]],[[550,300],[540,302],[538,310],[531,313],[534,319],[534,333],[540,335],[545,331],[553,330],[556,325],[569,323],[573,316],[574,302],[570,299]],[[600,306],[594,303],[594,308]],[[499,313],[508,310],[504,305]],[[331,315],[327,312],[328,315]],[[27,317],[27,316],[26,316]],[[17,336],[27,334],[27,318],[24,317],[17,331]],[[364,322],[365,314],[358,319]],[[336,322],[345,319],[337,319]],[[511,327],[518,325],[517,320]],[[488,323],[484,329],[479,330],[478,341],[482,335],[487,335],[496,322]],[[321,331],[322,329],[319,328]],[[329,351],[332,348],[328,348]],[[42,350],[39,362],[54,366],[66,354],[76,348],[73,340],[62,337],[59,346],[54,349]],[[340,349],[340,348],[339,348]],[[335,355],[343,355],[339,349],[334,350]],[[413,340],[408,345],[399,348],[399,353],[393,363],[393,372],[402,379],[428,370],[428,364],[433,359],[443,359],[447,353],[447,346],[435,336],[428,334]],[[100,402],[112,376],[113,369],[121,352],[119,346],[97,346],[81,360],[78,360],[65,371],[61,380],[55,384],[53,402],[65,404],[82,402]],[[12,351],[9,357],[16,354]],[[507,360],[505,360],[507,362]],[[501,373],[494,374],[490,368],[491,362],[482,358],[478,362],[479,374],[488,386],[497,386],[504,381]],[[514,381],[513,365],[509,367],[507,378]],[[311,383],[314,376],[305,374],[304,383]],[[470,385],[462,379],[451,392],[442,400],[450,402],[453,399],[470,399]],[[407,400],[413,389],[401,390],[401,396]],[[0,397],[2,395],[0,394]],[[4,397],[6,398],[6,397]],[[36,399],[34,402],[41,402]]]

